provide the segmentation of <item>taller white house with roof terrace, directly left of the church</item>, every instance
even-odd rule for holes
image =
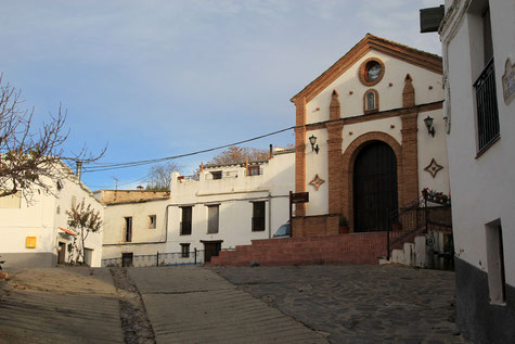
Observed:
[[[204,166],[198,178],[171,176],[167,252],[223,249],[271,238],[289,219],[294,150],[275,149],[262,162]]]

